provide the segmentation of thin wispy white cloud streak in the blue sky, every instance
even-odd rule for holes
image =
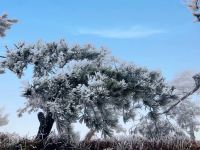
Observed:
[[[142,26],[133,26],[126,29],[81,29],[78,34],[82,35],[94,35],[105,38],[116,39],[131,39],[131,38],[145,38],[156,34],[164,34],[167,31],[162,29],[151,29]]]

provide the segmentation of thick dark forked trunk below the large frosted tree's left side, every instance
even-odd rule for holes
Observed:
[[[43,112],[38,113],[38,120],[40,122],[40,126],[38,129],[38,133],[36,136],[36,140],[44,140],[48,137],[51,129],[53,127],[54,119],[52,118],[52,113],[47,113],[46,117]]]

